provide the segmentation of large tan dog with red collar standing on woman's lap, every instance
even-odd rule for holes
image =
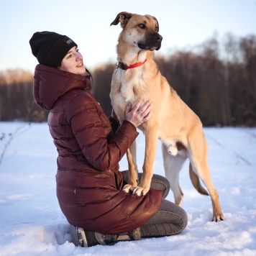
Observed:
[[[211,183],[207,145],[201,121],[170,87],[153,59],[153,51],[159,50],[162,42],[162,37],[158,34],[157,19],[150,15],[121,12],[111,25],[117,25],[119,22],[122,27],[116,47],[119,63],[111,82],[111,104],[121,123],[124,121],[124,109],[128,102],[134,105],[140,98],[144,101],[150,100],[153,109],[150,119],[138,127],[145,133],[146,143],[142,180],[137,186],[134,142],[127,152],[129,185],[124,187],[124,191],[128,193],[132,190],[137,196],[145,195],[149,191],[157,139],[160,139],[165,175],[170,181],[175,204],[180,206],[183,201],[179,173],[188,157],[193,186],[199,193],[210,194],[213,220],[223,220],[219,196]],[[198,176],[204,181],[209,193],[201,186]]]

